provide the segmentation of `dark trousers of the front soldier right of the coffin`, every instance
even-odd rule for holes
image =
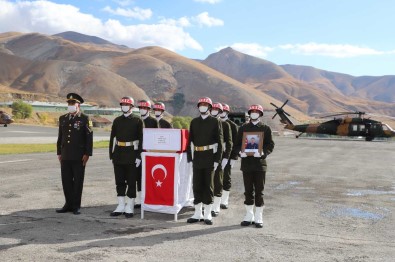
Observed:
[[[212,204],[214,199],[214,169],[193,168],[193,203]]]

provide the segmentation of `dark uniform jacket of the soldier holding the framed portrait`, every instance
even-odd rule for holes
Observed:
[[[265,153],[264,156],[261,158],[257,158],[254,156],[247,156],[241,158],[241,170],[244,172],[251,172],[251,171],[266,171],[267,170],[267,163],[266,157],[273,151],[274,149],[274,141],[272,139],[272,131],[269,126],[259,122],[257,125],[253,123],[247,123],[242,125],[239,128],[237,133],[237,138],[235,142],[235,150],[237,152],[241,151],[243,141],[243,133],[244,132],[263,132],[263,152]]]

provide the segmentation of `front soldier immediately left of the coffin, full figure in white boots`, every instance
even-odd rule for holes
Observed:
[[[119,216],[125,213],[125,217],[130,218],[134,213],[136,178],[141,164],[144,124],[143,120],[132,113],[134,107],[132,97],[122,97],[120,105],[123,115],[115,118],[112,124],[109,145],[118,197],[118,206],[110,215]]]

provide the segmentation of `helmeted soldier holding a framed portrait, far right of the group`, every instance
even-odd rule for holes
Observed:
[[[256,227],[261,228],[263,226],[262,213],[264,209],[263,189],[267,170],[266,157],[273,151],[274,142],[270,127],[260,121],[260,118],[263,116],[262,106],[251,105],[248,114],[250,122],[239,128],[235,142],[235,149],[240,151],[245,191],[246,215],[241,225],[248,226],[255,223]],[[246,141],[243,141],[244,132],[261,132],[263,134],[263,150],[261,153],[257,150],[253,156],[247,156],[245,152],[241,152],[242,144],[246,143]]]

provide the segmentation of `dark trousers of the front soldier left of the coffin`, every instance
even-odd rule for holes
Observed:
[[[136,176],[138,173],[136,164],[115,164],[115,185],[117,196],[136,198]],[[127,189],[126,189],[127,188]]]

